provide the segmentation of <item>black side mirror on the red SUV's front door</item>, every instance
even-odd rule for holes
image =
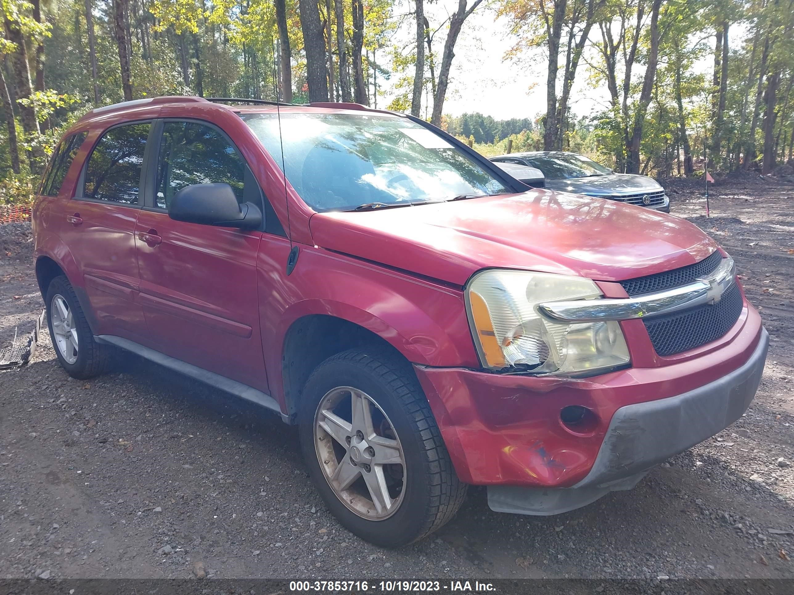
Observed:
[[[174,194],[168,206],[174,221],[255,229],[262,225],[262,212],[250,202],[240,205],[229,184],[194,184]]]

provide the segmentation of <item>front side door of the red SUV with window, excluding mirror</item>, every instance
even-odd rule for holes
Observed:
[[[175,120],[162,129],[152,205],[136,226],[148,347],[267,392],[256,293],[261,232],[168,217],[185,186],[225,182],[239,202],[261,208],[260,188],[220,129]]]

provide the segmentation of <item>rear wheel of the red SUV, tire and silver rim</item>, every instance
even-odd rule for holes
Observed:
[[[114,347],[99,344],[69,280],[60,275],[49,284],[47,327],[61,367],[72,378],[94,378],[113,363]]]

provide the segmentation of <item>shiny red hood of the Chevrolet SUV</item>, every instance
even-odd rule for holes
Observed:
[[[688,221],[601,198],[533,190],[359,213],[318,213],[314,244],[464,285],[486,267],[621,281],[715,250]]]

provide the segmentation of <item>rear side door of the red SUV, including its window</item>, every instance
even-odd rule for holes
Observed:
[[[83,273],[98,334],[137,339],[145,320],[137,304],[135,223],[151,121],[114,126],[91,150],[64,203],[61,236]]]

